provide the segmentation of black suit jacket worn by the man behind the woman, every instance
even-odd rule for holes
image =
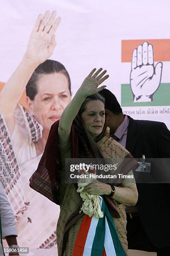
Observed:
[[[128,118],[126,148],[134,158],[170,158],[170,131],[164,123]],[[165,174],[161,160],[157,163],[151,163],[151,179]],[[137,183],[137,189],[138,213],[148,238],[157,248],[170,246],[170,184]]]

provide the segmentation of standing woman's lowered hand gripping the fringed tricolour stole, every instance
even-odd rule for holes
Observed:
[[[112,188],[109,184],[99,182],[98,180],[94,180],[84,188],[84,192],[87,192],[89,195],[110,195],[111,191]]]

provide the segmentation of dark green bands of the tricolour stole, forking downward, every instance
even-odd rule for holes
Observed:
[[[101,196],[102,197],[102,196]],[[126,256],[126,253],[122,247],[122,244],[119,240],[119,236],[117,234],[116,227],[114,225],[114,221],[112,219],[112,216],[107,208],[107,205],[104,202],[104,198],[102,197],[102,205],[101,205],[101,211],[104,213],[103,218],[99,218],[97,227],[96,227],[96,233],[94,236],[93,245],[91,248],[91,256],[102,256],[104,251],[104,237],[105,237],[105,216],[107,218],[107,222],[109,225],[110,233],[112,236],[112,240],[114,243],[114,248],[116,251],[117,256]]]

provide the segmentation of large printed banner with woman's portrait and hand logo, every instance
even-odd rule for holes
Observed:
[[[169,8],[169,0],[161,5],[153,0],[3,1],[0,95],[6,108],[0,108],[0,180],[15,215],[20,246],[56,247],[60,208],[31,189],[29,178],[41,159],[51,125],[92,68],[107,69],[107,88],[124,114],[161,121],[170,128]],[[25,54],[36,17],[45,10],[57,10],[61,16],[50,58],[60,71],[34,77],[29,92],[23,90],[20,99],[15,81],[3,94],[2,88],[7,88]],[[16,103],[15,109],[11,102]]]

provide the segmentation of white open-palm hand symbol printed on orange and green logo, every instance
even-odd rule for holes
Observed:
[[[144,42],[134,49],[130,85],[134,102],[150,102],[160,86],[162,62],[154,67],[152,44]]]

